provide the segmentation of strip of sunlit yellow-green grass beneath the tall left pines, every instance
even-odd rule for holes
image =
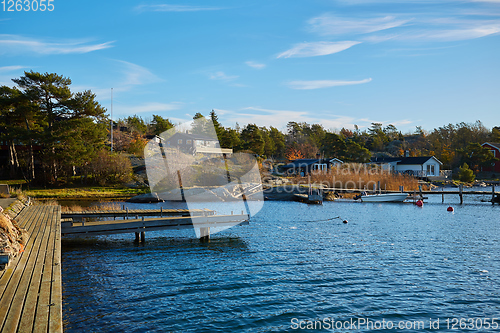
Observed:
[[[83,186],[67,184],[59,187],[28,187],[24,180],[0,180],[8,184],[11,191],[21,188],[24,195],[32,198],[79,199],[79,198],[129,198],[148,193],[149,188],[128,188],[125,186]]]

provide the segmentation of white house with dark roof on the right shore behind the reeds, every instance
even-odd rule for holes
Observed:
[[[386,171],[417,177],[437,177],[443,165],[434,156],[372,158],[370,163],[380,165]]]

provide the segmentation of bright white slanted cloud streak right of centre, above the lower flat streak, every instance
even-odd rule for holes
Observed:
[[[278,54],[276,58],[303,58],[328,55],[347,50],[357,44],[360,44],[360,42],[342,41],[300,43],[296,44],[290,50]]]

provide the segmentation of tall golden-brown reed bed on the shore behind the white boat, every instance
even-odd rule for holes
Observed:
[[[418,179],[408,175],[393,174],[378,166],[346,163],[328,172],[313,172],[310,177],[296,177],[296,184],[323,185],[329,188],[350,190],[372,190],[380,182],[380,188],[387,191],[399,191],[404,186],[406,191],[418,190]],[[425,189],[424,189],[425,190]]]

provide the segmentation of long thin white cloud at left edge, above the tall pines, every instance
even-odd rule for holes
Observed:
[[[92,44],[88,40],[44,41],[18,35],[0,35],[0,54],[72,54],[113,47],[113,42]]]

